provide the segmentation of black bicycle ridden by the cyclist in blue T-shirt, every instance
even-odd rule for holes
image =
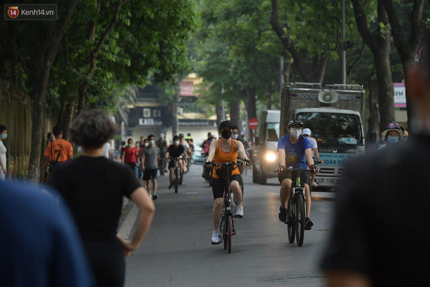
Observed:
[[[297,238],[298,246],[303,245],[304,239],[304,223],[306,219],[306,208],[304,205],[304,188],[301,186],[301,172],[311,172],[312,170],[288,167],[283,169],[278,167],[275,172],[289,173],[291,172],[291,193],[286,206],[286,225],[288,230],[289,243],[293,243]]]

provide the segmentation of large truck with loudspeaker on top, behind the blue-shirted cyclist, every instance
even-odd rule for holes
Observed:
[[[316,175],[318,188],[333,188],[344,165],[364,154],[362,119],[365,94],[361,85],[291,83],[282,89],[279,136],[287,132],[289,120],[297,117],[311,129],[323,163]]]

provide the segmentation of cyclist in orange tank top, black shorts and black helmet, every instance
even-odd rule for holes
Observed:
[[[243,144],[239,140],[232,139],[232,133],[234,124],[230,121],[221,122],[219,131],[222,138],[219,140],[213,140],[209,146],[209,155],[207,161],[211,162],[215,159],[215,163],[232,163],[236,161],[237,155],[243,158],[246,165],[250,164],[249,159],[246,157],[245,149]],[[214,170],[212,174],[212,193],[214,194],[214,207],[212,208],[212,222],[214,224],[214,231],[212,231],[212,244],[218,244],[218,223],[223,208],[223,197],[224,197],[224,181],[223,176],[216,174],[221,171],[220,169]],[[233,192],[234,199],[236,199],[236,218],[243,217],[243,205],[242,205],[242,190],[239,186],[239,169],[236,167],[232,174],[230,174],[230,188]]]

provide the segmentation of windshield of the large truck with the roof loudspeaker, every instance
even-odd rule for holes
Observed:
[[[343,142],[356,145],[362,142],[360,119],[357,115],[340,113],[298,113],[305,128],[311,129],[317,142]]]

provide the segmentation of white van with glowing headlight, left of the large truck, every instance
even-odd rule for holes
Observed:
[[[252,158],[252,182],[266,184],[267,179],[277,177],[277,141],[279,140],[280,110],[262,110],[255,137]]]

